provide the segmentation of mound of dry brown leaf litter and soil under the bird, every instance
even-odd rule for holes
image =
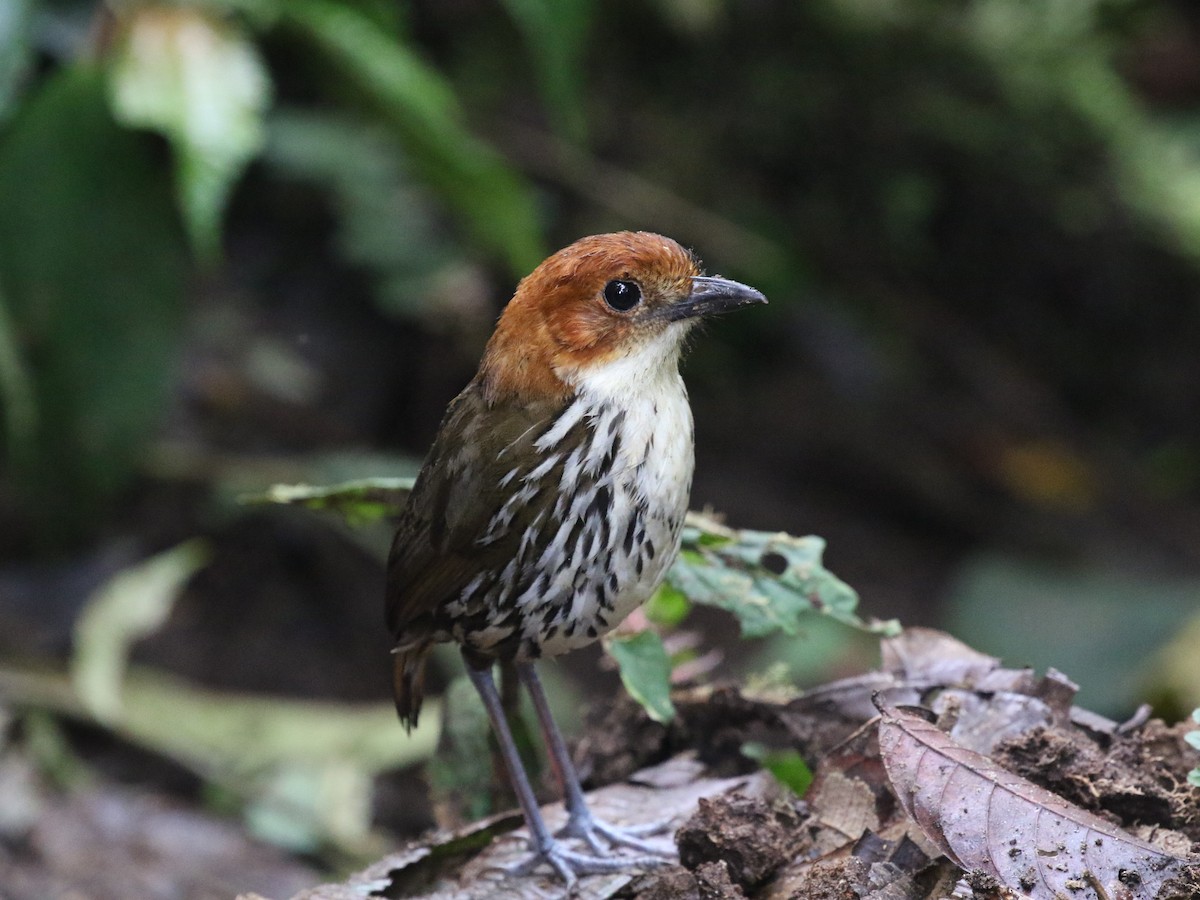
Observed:
[[[616,782],[598,796],[616,790],[659,809],[661,773],[674,773],[674,797],[686,796],[683,809],[671,808],[680,863],[584,878],[575,895],[1200,896],[1200,802],[1187,785],[1195,751],[1183,737],[1190,726],[1145,714],[1114,722],[1074,707],[1074,690],[1061,673],[1006,668],[947,635],[911,629],[883,641],[880,671],[788,701],[734,688],[678,690],[670,722],[620,701],[599,713],[577,748],[588,786]],[[806,758],[815,778],[804,798],[760,770],[743,752],[748,744],[755,756],[767,748]],[[691,787],[679,779],[694,779]],[[560,815],[557,804],[548,809]],[[480,895],[473,872],[520,848],[500,832],[467,869],[455,864],[426,882],[428,895]],[[367,875],[372,895],[427,895],[406,882],[401,860],[452,839],[418,841],[358,881],[299,896],[344,896],[355,884],[361,896]],[[538,875],[504,890],[562,893]]]

